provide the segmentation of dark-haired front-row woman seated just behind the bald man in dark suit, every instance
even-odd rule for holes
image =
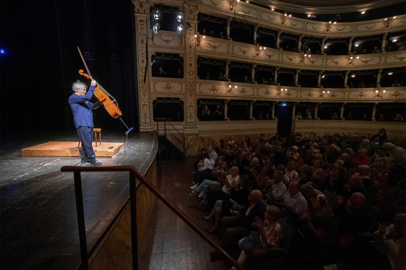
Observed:
[[[246,205],[249,193],[248,178],[241,175],[238,189],[235,187],[230,189],[230,198],[217,200],[212,213],[206,217],[201,217],[202,220],[214,223],[214,227],[209,230],[209,233],[213,233],[220,228],[221,219],[230,215],[230,209],[237,210],[240,206]]]

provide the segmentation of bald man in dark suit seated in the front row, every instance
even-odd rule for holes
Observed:
[[[255,217],[263,219],[265,206],[261,204],[261,198],[261,191],[254,189],[248,196],[249,205],[241,211],[230,209],[232,216],[222,218],[221,229],[224,233],[219,243],[221,247],[227,248],[230,244],[236,246],[237,242],[252,229],[251,224],[255,222]],[[215,261],[218,259],[219,253],[215,250],[210,253],[210,256],[212,261]]]

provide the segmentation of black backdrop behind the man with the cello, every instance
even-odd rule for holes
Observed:
[[[1,129],[74,128],[67,98],[85,67],[116,98],[122,119],[138,129],[138,89],[134,61],[134,7],[130,0],[2,0],[0,48]],[[94,100],[95,101],[95,100]],[[94,125],[124,130],[105,109]],[[125,129],[126,130],[126,129]]]

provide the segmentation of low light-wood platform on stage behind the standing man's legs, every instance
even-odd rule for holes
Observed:
[[[124,148],[123,143],[103,142],[97,147],[92,144],[96,157],[112,157]],[[78,147],[78,142],[48,142],[21,149],[21,152],[23,156],[81,156],[82,147]]]

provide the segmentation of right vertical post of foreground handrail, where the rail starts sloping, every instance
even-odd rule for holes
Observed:
[[[138,244],[137,244],[137,187],[136,176],[130,174],[130,217],[131,217],[131,247],[132,247],[132,269],[138,270]]]

